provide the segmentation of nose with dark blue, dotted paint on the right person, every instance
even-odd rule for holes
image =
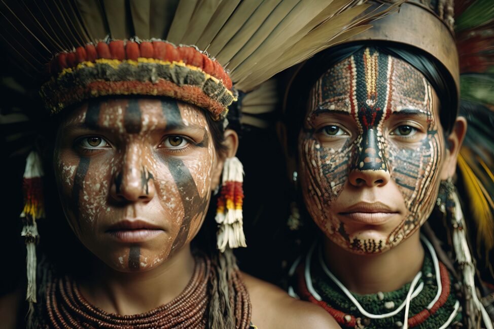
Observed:
[[[379,148],[377,133],[369,129],[363,136],[355,165],[350,171],[348,179],[356,187],[374,187],[386,185],[390,180],[390,172],[385,158]]]

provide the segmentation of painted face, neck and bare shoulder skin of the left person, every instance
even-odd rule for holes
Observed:
[[[225,145],[226,157],[233,157],[234,131],[225,132]],[[86,102],[68,114],[54,167],[68,222],[96,256],[93,275],[80,282],[90,303],[136,314],[181,293],[193,272],[190,242],[223,163],[205,113],[190,104],[118,98]],[[135,220],[152,225],[152,234],[129,241],[129,230],[114,226]],[[338,327],[327,313],[277,287],[247,275],[245,282],[252,322],[260,328]]]

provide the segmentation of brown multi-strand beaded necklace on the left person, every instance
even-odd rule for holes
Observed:
[[[47,284],[49,324],[56,329],[206,328],[210,302],[208,284],[215,276],[215,269],[211,267],[209,259],[197,255],[192,278],[178,297],[151,311],[133,315],[110,314],[91,305],[81,295],[77,283],[65,276]],[[249,328],[251,304],[238,271],[234,272],[230,284],[230,291],[233,292],[230,294],[230,303],[234,308],[236,327]]]

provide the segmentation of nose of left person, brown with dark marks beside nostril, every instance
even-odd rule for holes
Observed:
[[[110,189],[115,200],[148,202],[153,199],[156,193],[154,176],[145,162],[143,155],[133,154],[133,151],[124,154],[121,170],[115,172]]]

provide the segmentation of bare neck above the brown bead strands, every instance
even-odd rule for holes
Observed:
[[[194,271],[190,244],[145,272],[119,272],[102,262],[80,283],[89,303],[107,313],[139,314],[169,303],[185,289]]]

